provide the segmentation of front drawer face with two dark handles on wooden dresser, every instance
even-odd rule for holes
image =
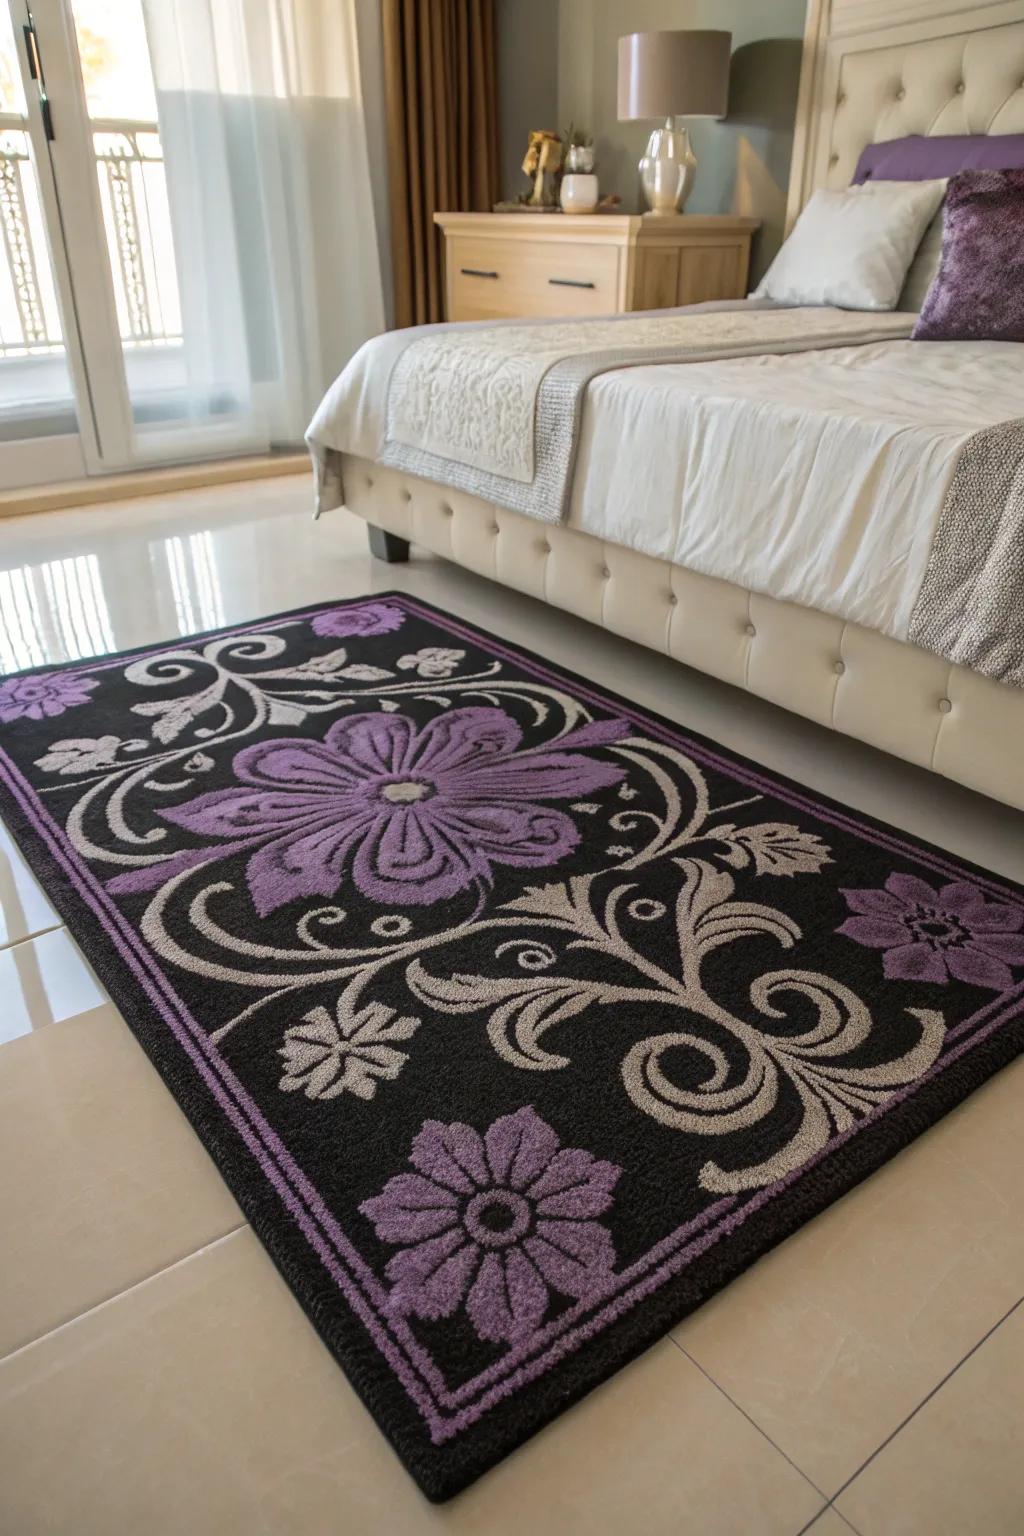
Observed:
[[[524,214],[522,218],[557,218]],[[613,315],[619,250],[570,240],[448,238],[450,319],[516,315]]]

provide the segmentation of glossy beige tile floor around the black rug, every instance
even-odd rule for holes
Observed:
[[[307,502],[0,524],[0,670],[404,587],[1024,879],[1024,817]],[[434,1508],[0,829],[0,1531],[1019,1536],[1022,1103],[1024,1061]]]

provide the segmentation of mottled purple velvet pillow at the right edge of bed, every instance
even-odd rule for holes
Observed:
[[[1024,341],[1024,170],[964,170],[915,341]]]

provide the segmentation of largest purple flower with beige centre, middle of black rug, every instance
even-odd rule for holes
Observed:
[[[497,708],[451,710],[422,728],[405,714],[353,714],[322,742],[243,748],[233,768],[244,788],[161,814],[230,851],[261,845],[246,876],[263,917],[298,897],[335,895],[348,869],[373,902],[441,902],[488,883],[493,865],[537,868],[571,852],[573,819],[537,802],[619,783],[622,768],[577,748],[626,733],[623,720],[605,720],[520,751],[519,725]]]

